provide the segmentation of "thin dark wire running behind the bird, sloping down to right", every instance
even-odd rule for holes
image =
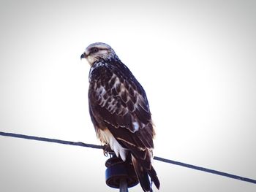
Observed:
[[[24,134],[12,134],[12,133],[6,133],[6,132],[2,132],[0,131],[0,135],[1,136],[5,136],[5,137],[16,137],[16,138],[21,138],[21,139],[31,139],[31,140],[37,140],[37,141],[42,141],[42,142],[55,142],[55,143],[59,143],[59,144],[64,144],[64,145],[75,145],[75,146],[80,146],[80,147],[91,147],[94,149],[104,149],[104,146],[102,145],[92,145],[92,144],[87,144],[87,143],[83,143],[83,142],[69,142],[69,141],[65,141],[65,140],[60,140],[60,139],[50,139],[50,138],[45,138],[45,137],[35,137],[35,136],[29,136],[29,135],[24,135]],[[224,177],[230,177],[232,179],[236,179],[236,180],[241,180],[244,182],[249,182],[249,183],[254,183],[256,184],[256,180],[252,180],[250,178],[246,178],[246,177],[241,177],[238,176],[236,174],[229,174],[226,172],[219,172],[217,170],[214,169],[207,169],[204,168],[202,166],[195,166],[192,164],[184,164],[182,162],[178,162],[178,161],[173,161],[167,158],[161,158],[161,157],[157,157],[154,156],[154,160],[157,161],[162,161],[168,164],[175,164],[178,166],[184,166],[187,167],[189,169],[196,169],[198,171],[202,171],[202,172],[208,172],[211,174],[218,174]]]

